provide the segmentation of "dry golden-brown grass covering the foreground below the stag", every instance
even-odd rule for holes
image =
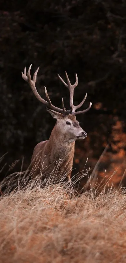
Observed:
[[[125,262],[126,196],[70,197],[61,185],[0,200],[0,262]]]

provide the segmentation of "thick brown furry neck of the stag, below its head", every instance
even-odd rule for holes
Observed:
[[[55,125],[48,140],[48,150],[54,159],[74,153],[75,142],[68,142],[67,136]],[[52,158],[51,158],[52,159]]]

